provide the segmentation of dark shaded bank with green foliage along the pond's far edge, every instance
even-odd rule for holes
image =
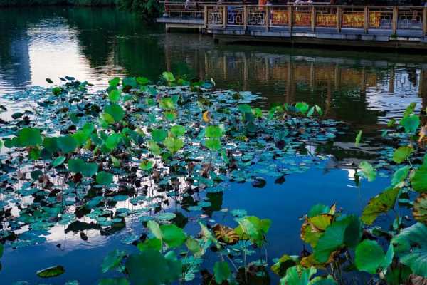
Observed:
[[[159,16],[161,7],[157,0],[0,0],[1,7],[22,6],[97,6],[116,7],[126,11],[138,12],[149,21]]]

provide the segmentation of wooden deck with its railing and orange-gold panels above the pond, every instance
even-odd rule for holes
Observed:
[[[164,5],[157,21],[167,31],[195,28],[218,41],[427,49],[424,6]]]

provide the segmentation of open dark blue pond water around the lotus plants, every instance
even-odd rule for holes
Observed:
[[[217,221],[231,219],[218,211],[221,208],[246,209],[272,220],[270,259],[302,250],[299,217],[313,204],[337,203],[346,212],[359,213],[370,197],[384,190],[387,177],[356,187],[355,165],[376,157],[381,129],[389,119],[398,118],[411,102],[418,103],[417,110],[427,107],[427,56],[216,45],[209,36],[165,34],[161,26],[110,9],[0,10],[1,104],[8,105],[6,93],[47,86],[45,78],[59,83],[58,77],[74,76],[103,88],[115,76],[156,80],[162,71],[214,78],[219,88],[261,93],[265,108],[275,102],[317,104],[327,118],[349,126],[325,145],[323,152],[333,156],[327,162],[287,175],[281,184],[267,178],[267,185],[258,189],[231,182],[223,195],[213,195],[217,210],[212,218]],[[364,141],[355,149],[358,130],[363,130]],[[188,227],[195,228],[191,223]],[[65,266],[65,274],[47,283],[96,284],[104,276],[100,264],[105,254],[115,248],[135,250],[123,239],[142,232],[138,220],[127,221],[125,229],[111,235],[81,229],[87,240],[66,228],[54,227],[41,244],[6,247],[1,284],[43,283],[35,272],[55,264]]]

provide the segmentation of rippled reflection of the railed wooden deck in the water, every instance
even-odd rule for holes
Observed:
[[[337,51],[316,56],[316,51],[300,55],[296,50],[258,52],[258,47],[246,51],[238,51],[240,46],[204,48],[204,37],[192,40],[180,46],[179,36],[166,35],[169,71],[184,62],[195,76],[214,78],[218,86],[262,92],[268,104],[304,100],[321,105],[330,118],[361,125],[385,123],[410,102],[421,103],[418,108],[427,106],[427,65],[399,63],[396,58],[342,57]]]

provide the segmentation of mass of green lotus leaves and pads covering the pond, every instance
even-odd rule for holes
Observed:
[[[260,175],[280,180],[327,160],[301,152],[307,143],[320,145],[337,131],[337,122],[315,118],[323,115],[319,106],[296,103],[263,111],[255,107],[258,95],[216,90],[212,80],[191,82],[172,73],[162,74],[164,85],[142,77],[113,78],[107,90],[97,92],[72,77],[62,81],[31,94],[37,105],[12,114],[1,126],[0,237],[11,247],[41,243],[58,224],[67,226],[65,232],[113,234],[133,217],[144,233],[126,240],[135,251],[107,254],[102,272],[118,276],[100,284],[184,283],[198,275],[203,284],[269,284],[270,270],[281,284],[342,284],[349,276],[344,271],[364,271],[388,284],[427,277],[422,238],[427,156],[422,157],[415,105],[399,123],[389,124],[395,131],[388,135],[401,142],[384,158],[396,168],[390,187],[369,201],[361,217],[336,205],[313,206],[301,227],[307,248],[272,265],[265,247],[274,226],[269,219],[244,210],[229,213],[233,224],[203,216],[221,210],[214,197],[228,181],[264,187]],[[355,144],[361,139],[359,132]],[[289,157],[300,158],[299,167],[286,166]],[[373,181],[378,167],[362,161],[357,175]],[[135,208],[118,206],[124,201]],[[394,211],[397,202],[413,210],[416,224],[406,224]],[[11,214],[16,203],[19,216]],[[176,208],[167,210],[172,203]],[[396,213],[390,229],[374,224],[390,211]],[[187,231],[183,212],[195,213],[198,234]],[[64,271],[58,265],[37,274],[48,278]]]

